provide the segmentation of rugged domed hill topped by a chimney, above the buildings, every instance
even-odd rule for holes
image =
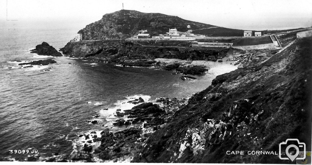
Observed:
[[[193,30],[213,27],[213,25],[161,13],[120,10],[105,14],[102,19],[87,25],[78,33],[82,33],[84,40],[124,39],[138,34],[139,30],[147,30],[147,33],[151,35],[166,33],[169,28],[177,28],[180,32],[186,32],[188,25]]]

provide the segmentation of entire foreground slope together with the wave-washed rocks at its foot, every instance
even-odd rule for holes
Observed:
[[[251,160],[248,155],[228,156],[225,152],[261,148],[275,151],[275,140],[285,138],[311,144],[309,138],[302,138],[311,126],[310,101],[306,97],[311,96],[311,91],[305,90],[311,89],[311,42],[311,38],[292,42],[279,53],[256,52],[253,56],[265,54],[266,60],[250,58],[243,68],[217,76],[211,86],[185,100],[186,105],[180,108],[174,108],[175,99],[163,98],[159,101],[168,104],[169,111],[154,103],[143,103],[116,112],[116,116],[123,116],[115,122],[121,126],[116,127],[128,127],[130,122],[135,125],[136,121],[139,124],[116,133],[103,131],[98,138],[101,147],[95,148],[93,155],[99,159],[91,155],[88,160],[289,163],[278,157],[260,155]],[[135,118],[124,119],[129,116]],[[309,127],[296,131],[302,124]]]

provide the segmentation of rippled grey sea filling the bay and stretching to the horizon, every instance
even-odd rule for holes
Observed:
[[[28,51],[43,41],[59,49],[78,30],[69,25],[22,26],[13,22],[0,27],[0,160],[23,161],[32,155],[44,160],[55,153],[66,158],[81,147],[78,135],[103,130],[103,124],[115,120],[117,108],[134,106],[128,100],[185,98],[207,88],[215,77],[206,74],[197,76],[198,80],[182,81],[178,79],[181,75],[169,71],[39,56]],[[48,58],[57,63],[17,67],[21,63],[17,61]],[[96,115],[101,115],[98,124],[87,122]],[[27,149],[38,153],[14,153]]]

